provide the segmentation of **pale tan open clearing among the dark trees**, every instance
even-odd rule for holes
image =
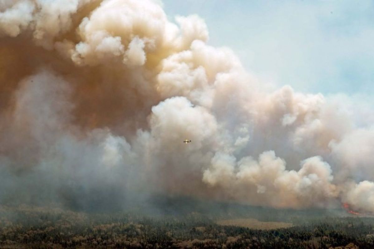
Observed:
[[[270,230],[277,228],[292,227],[292,223],[287,222],[263,222],[256,219],[232,219],[232,220],[218,220],[218,225],[234,225],[238,227],[248,227],[252,229]]]

